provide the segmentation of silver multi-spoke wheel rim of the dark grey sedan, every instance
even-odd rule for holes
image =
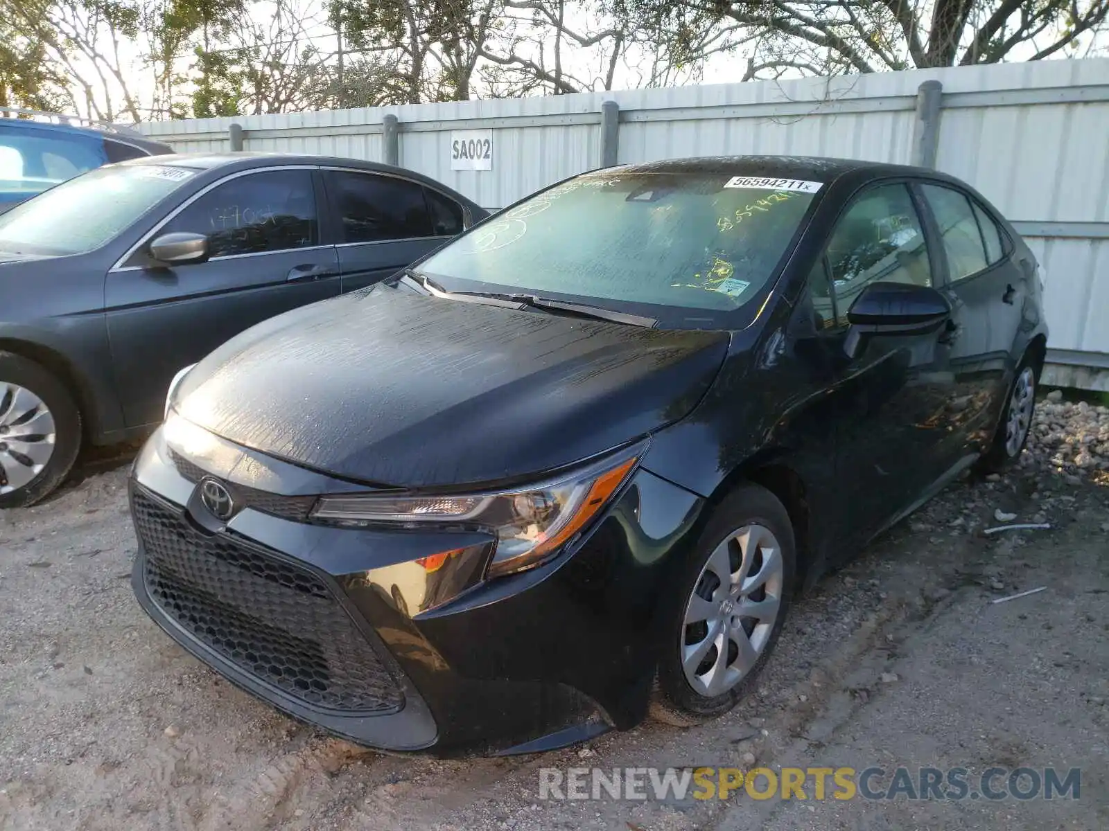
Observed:
[[[27,485],[54,454],[54,417],[28,389],[0,381],[0,495]]]

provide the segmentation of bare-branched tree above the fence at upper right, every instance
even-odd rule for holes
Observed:
[[[1109,0],[613,0],[614,14],[694,31],[732,27],[746,78],[1038,60],[1105,25]]]

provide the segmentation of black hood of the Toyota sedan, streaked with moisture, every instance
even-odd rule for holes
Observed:
[[[682,418],[728,350],[667,331],[377,286],[261,324],[189,373],[186,419],[369,484],[542,473]]]

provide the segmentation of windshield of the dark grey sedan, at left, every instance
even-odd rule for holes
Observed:
[[[0,252],[45,256],[91,252],[195,173],[152,164],[89,171],[0,214]]]

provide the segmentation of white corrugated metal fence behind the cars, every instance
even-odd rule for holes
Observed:
[[[981,191],[1029,239],[1047,274],[1052,380],[1109,389],[1109,60],[141,129],[179,152],[241,144],[393,162],[488,208],[586,170],[675,156],[774,153],[933,165]],[[492,131],[491,171],[451,170],[451,131],[472,129]]]

